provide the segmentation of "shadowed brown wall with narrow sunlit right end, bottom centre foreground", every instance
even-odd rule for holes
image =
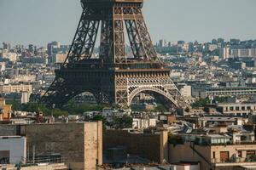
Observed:
[[[148,158],[150,161],[168,160],[168,133],[145,134],[128,133],[122,130],[106,130],[103,132],[103,149],[123,145],[129,154]]]

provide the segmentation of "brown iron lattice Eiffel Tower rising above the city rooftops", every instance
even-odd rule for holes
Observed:
[[[74,96],[90,92],[98,103],[125,107],[139,93],[165,99],[173,108],[187,108],[155,51],[143,19],[143,0],[81,0],[83,13],[64,64],[41,98],[61,107]],[[92,58],[100,30],[100,52]],[[125,30],[133,58],[125,53]]]

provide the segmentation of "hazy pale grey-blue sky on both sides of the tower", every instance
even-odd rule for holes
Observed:
[[[0,0],[0,42],[69,44],[81,11],[79,0]],[[145,0],[143,12],[154,42],[256,39],[256,0]]]

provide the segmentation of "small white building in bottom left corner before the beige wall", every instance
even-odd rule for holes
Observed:
[[[26,160],[26,138],[20,136],[0,137],[0,159],[18,164]]]

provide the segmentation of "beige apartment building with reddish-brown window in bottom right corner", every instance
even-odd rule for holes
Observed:
[[[230,139],[221,135],[206,139],[215,144],[184,143],[169,145],[169,162],[199,161],[201,170],[233,170],[256,168],[256,144],[227,144]],[[201,138],[201,140],[204,140]],[[178,153],[178,154],[177,154]]]

